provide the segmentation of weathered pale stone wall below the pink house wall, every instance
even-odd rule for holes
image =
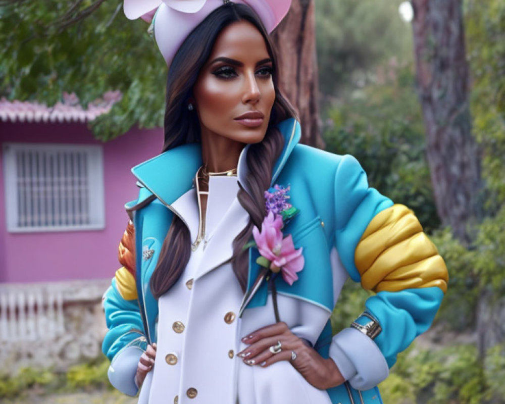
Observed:
[[[110,280],[0,284],[0,363],[65,370],[102,355]]]

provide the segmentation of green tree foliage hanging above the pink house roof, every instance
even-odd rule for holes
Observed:
[[[92,124],[103,140],[132,125],[163,126],[166,67],[147,24],[129,21],[120,0],[0,2],[0,96],[54,105],[63,91],[83,106],[106,91],[123,98]],[[7,4],[7,5],[6,5]],[[92,18],[84,18],[92,9]],[[96,8],[96,9],[94,9]],[[71,19],[79,19],[67,26]]]

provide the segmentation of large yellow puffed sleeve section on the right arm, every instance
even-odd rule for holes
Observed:
[[[368,225],[355,252],[365,289],[398,291],[437,286],[447,290],[447,268],[414,213],[393,205]]]

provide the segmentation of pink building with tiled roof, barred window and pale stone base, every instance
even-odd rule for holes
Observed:
[[[160,153],[163,130],[107,143],[82,110],[0,99],[0,363],[66,368],[100,355],[102,294],[138,188],[130,168]]]

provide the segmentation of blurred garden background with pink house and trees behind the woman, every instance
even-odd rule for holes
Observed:
[[[136,402],[108,383],[101,298],[129,169],[163,143],[146,28],[118,0],[0,0],[0,402]],[[302,142],[356,156],[447,263],[384,402],[505,402],[505,2],[293,0],[273,37]],[[346,285],[335,332],[367,296]]]

